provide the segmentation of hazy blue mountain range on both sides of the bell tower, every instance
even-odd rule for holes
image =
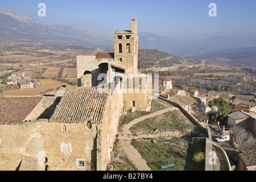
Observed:
[[[89,32],[62,25],[45,25],[20,13],[0,8],[0,39],[27,40],[31,42],[69,44],[72,46],[113,48],[113,40],[93,38]],[[239,39],[214,36],[204,40],[181,42],[150,32],[139,32],[140,49],[158,49],[176,56],[198,56],[222,49],[256,47],[256,39]]]

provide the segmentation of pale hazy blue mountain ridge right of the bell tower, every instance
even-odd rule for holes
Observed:
[[[255,47],[256,39],[238,39],[230,36],[213,36],[204,40],[180,42],[169,37],[158,36],[149,32],[139,33],[141,49],[158,49],[177,56],[196,56],[222,49]]]

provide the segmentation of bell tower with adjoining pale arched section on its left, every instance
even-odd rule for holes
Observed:
[[[129,73],[138,73],[137,20],[131,20],[131,30],[118,30],[114,34],[114,52],[101,52],[92,56],[77,56],[79,86],[98,86],[118,80]]]

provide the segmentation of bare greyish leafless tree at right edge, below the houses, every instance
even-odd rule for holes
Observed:
[[[256,140],[252,134],[241,126],[233,127],[234,139],[237,142],[238,150],[241,152],[251,151],[256,149]]]

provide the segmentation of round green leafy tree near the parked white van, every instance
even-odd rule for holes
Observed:
[[[229,102],[221,97],[209,101],[209,107],[215,111],[216,118],[221,120],[223,120],[231,112]]]

